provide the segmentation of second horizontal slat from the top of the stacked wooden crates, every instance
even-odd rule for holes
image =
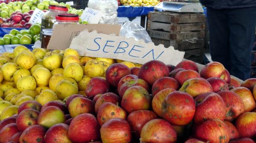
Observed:
[[[205,23],[186,23],[186,24],[175,24],[175,23],[164,23],[164,22],[152,22],[148,21],[147,28],[149,30],[163,30],[169,32],[184,32],[184,31],[204,31]]]

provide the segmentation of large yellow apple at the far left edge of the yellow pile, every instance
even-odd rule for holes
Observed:
[[[14,63],[8,62],[2,66],[1,70],[3,72],[4,80],[13,81],[13,74],[19,69]]]

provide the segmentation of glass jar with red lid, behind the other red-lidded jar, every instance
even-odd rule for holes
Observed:
[[[68,8],[65,6],[49,5],[49,11],[45,12],[42,16],[40,39],[42,40],[43,29],[52,29],[53,24],[56,22],[55,17],[61,13],[67,13]]]

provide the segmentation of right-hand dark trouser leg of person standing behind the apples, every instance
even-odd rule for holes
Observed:
[[[256,7],[227,10],[230,28],[230,74],[250,78],[251,50],[255,39]]]

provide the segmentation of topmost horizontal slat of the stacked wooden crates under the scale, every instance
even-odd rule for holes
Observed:
[[[201,13],[176,13],[169,11],[152,11],[148,13],[149,21],[166,23],[198,23],[204,22],[204,14]]]

